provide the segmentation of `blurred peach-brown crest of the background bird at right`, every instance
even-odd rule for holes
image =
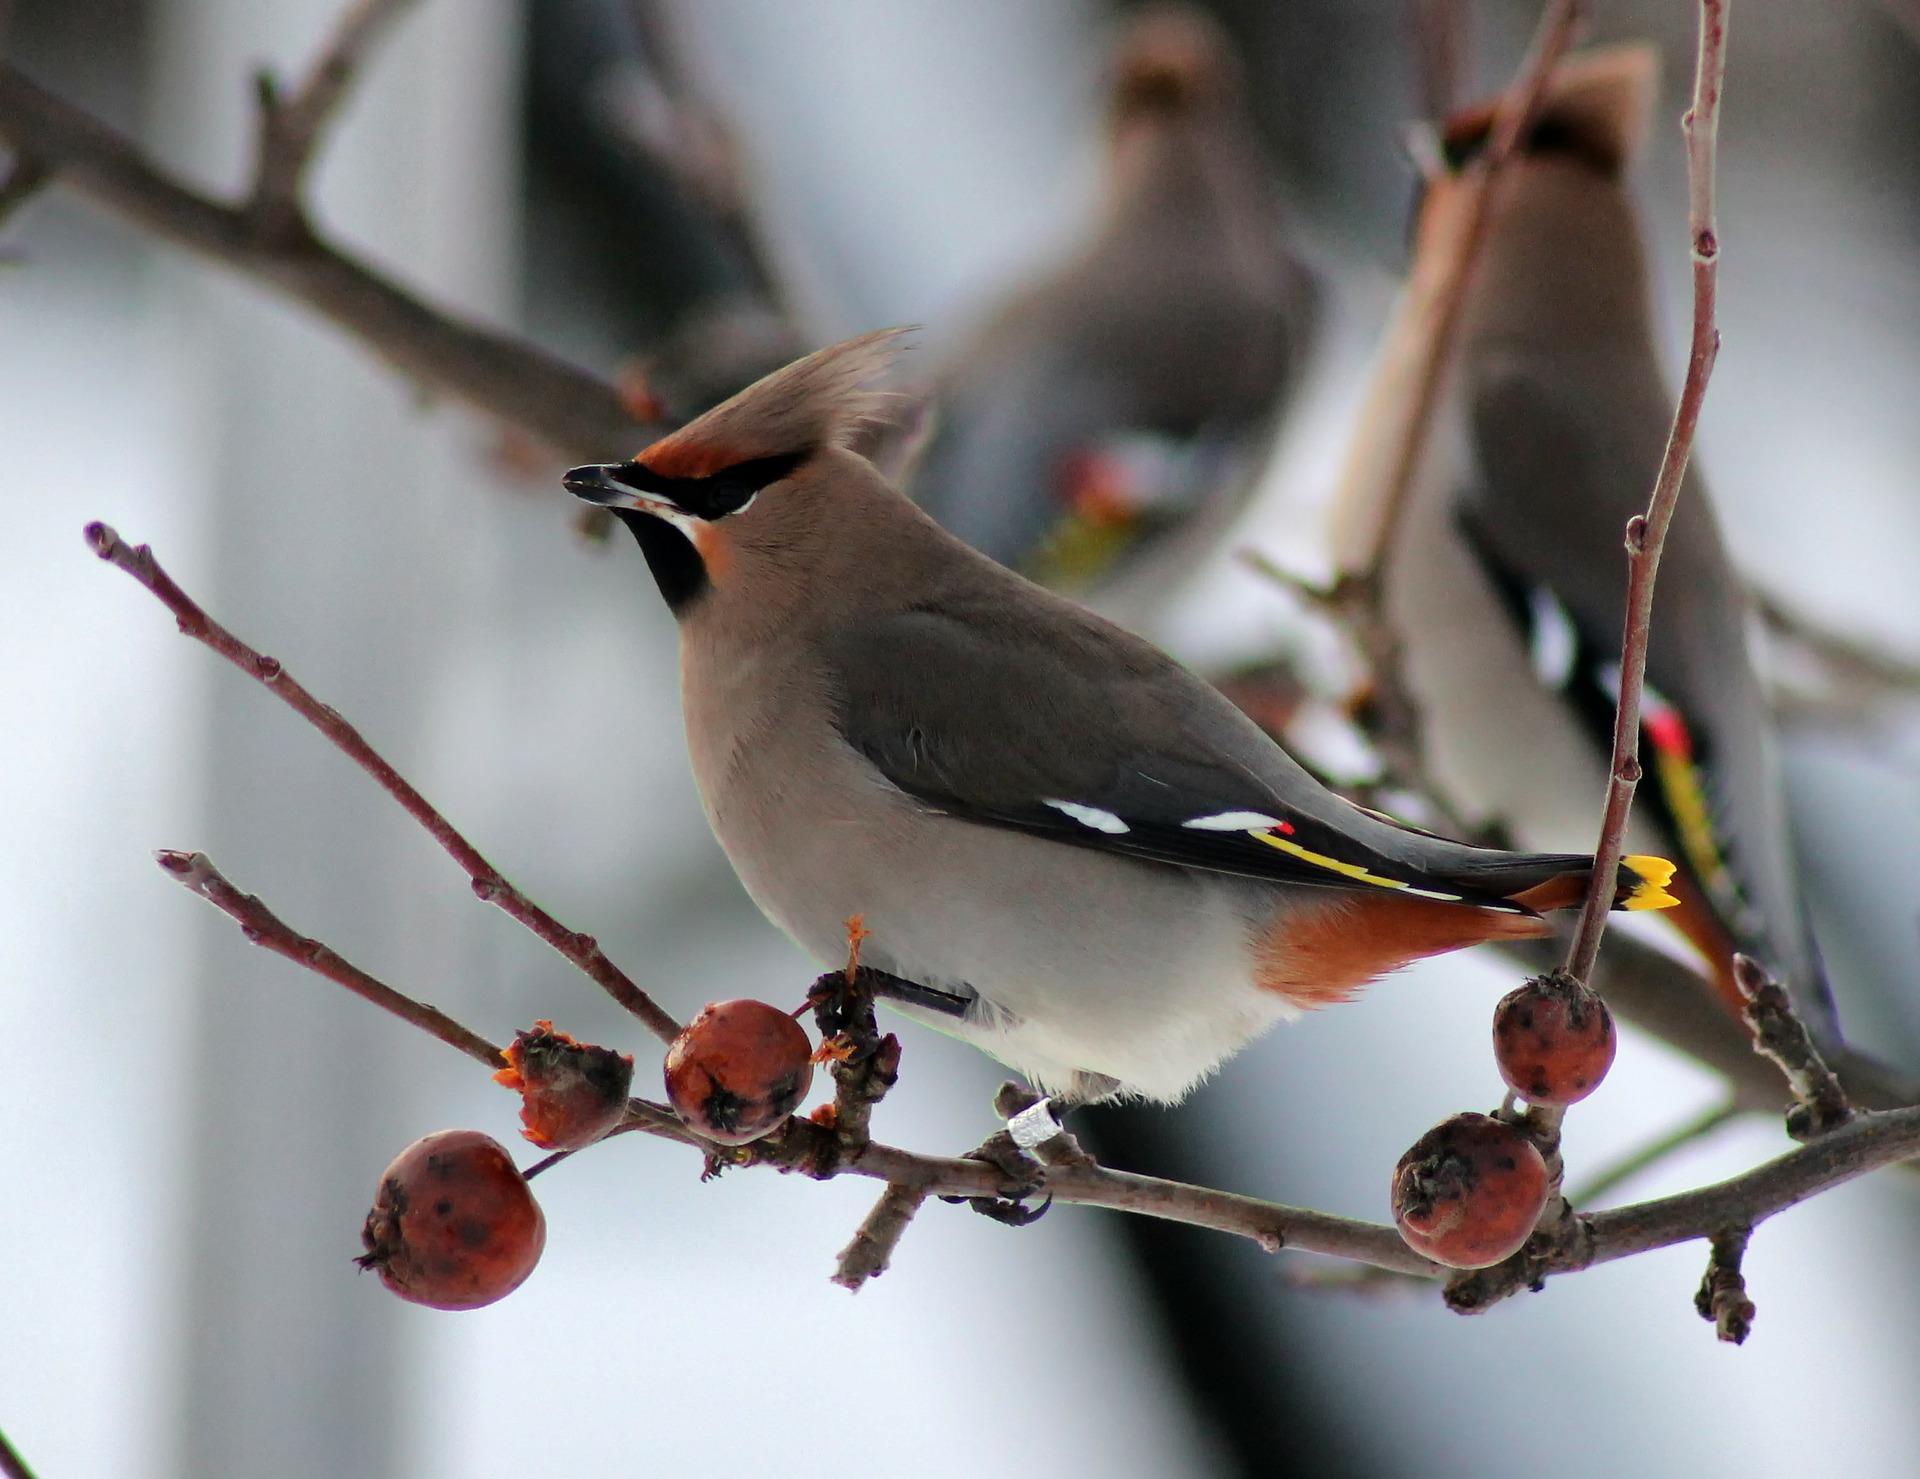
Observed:
[[[1645,42],[1563,61],[1548,83],[1526,150],[1574,154],[1607,173],[1622,173],[1645,142],[1659,65],[1659,50]],[[1442,142],[1450,159],[1463,161],[1486,144],[1496,106],[1496,100],[1475,104],[1448,119]]]

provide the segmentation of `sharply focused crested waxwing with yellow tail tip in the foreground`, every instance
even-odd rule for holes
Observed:
[[[1417,957],[1548,932],[1592,859],[1396,826],[1156,647],[973,551],[847,448],[895,332],[822,350],[564,482],[680,622],[708,820],[824,964],[1064,1099],[1175,1101]],[[1668,903],[1628,859],[1620,903]]]

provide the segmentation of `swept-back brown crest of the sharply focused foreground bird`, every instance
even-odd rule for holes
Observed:
[[[634,461],[660,476],[707,478],[737,463],[852,446],[889,419],[897,398],[868,390],[868,382],[906,348],[908,332],[881,328],[795,359],[662,436]]]

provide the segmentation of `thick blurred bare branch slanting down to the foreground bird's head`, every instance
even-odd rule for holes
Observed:
[[[248,209],[211,200],[150,161],[125,134],[0,61],[0,140],[61,184],[190,252],[305,303],[415,384],[447,394],[568,455],[639,446],[607,380],[526,340],[432,307],[324,236],[263,236]]]

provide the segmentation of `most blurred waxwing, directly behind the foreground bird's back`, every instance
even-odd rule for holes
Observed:
[[[1219,536],[1311,305],[1238,61],[1204,13],[1129,25],[1108,129],[1100,225],[937,376],[908,488],[975,549],[1062,588],[1139,572],[1150,549],[1156,572],[1185,570]]]

